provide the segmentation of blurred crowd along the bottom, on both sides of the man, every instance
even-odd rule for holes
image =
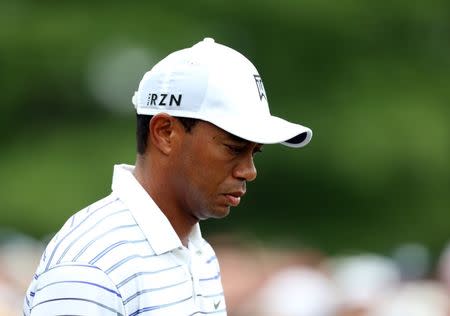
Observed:
[[[215,236],[229,316],[449,316],[450,246],[326,256]],[[1,234],[0,316],[21,315],[45,242]]]

